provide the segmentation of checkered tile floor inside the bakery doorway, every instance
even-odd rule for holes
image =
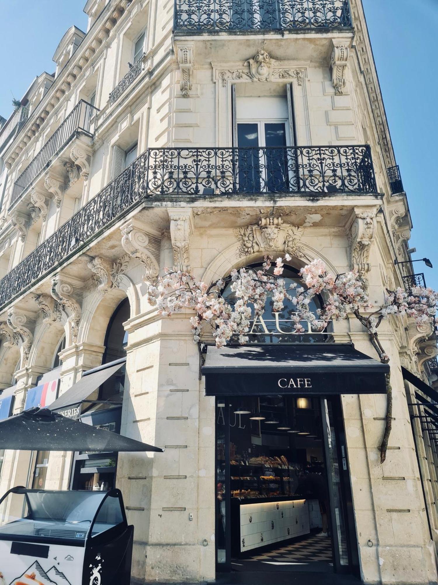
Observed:
[[[281,546],[261,555],[254,555],[247,560],[270,560],[272,562],[332,562],[332,543],[328,536],[309,535],[298,542]]]

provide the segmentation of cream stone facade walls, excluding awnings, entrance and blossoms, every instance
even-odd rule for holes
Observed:
[[[360,0],[249,4],[88,0],[87,32],[65,33],[55,73],[0,129],[0,388],[17,413],[38,384],[60,378],[62,395],[110,362],[127,299],[120,432],[164,449],[121,453],[114,471],[138,583],[213,581],[217,568],[216,402],[189,312],[159,315],[147,283],[172,266],[211,283],[281,252],[293,269],[321,258],[363,271],[376,306],[412,281]],[[437,453],[412,418],[425,394],[402,374],[436,379],[432,333],[409,319],[380,328],[394,387],[383,465],[385,395],[340,397],[366,583],[438,580]],[[377,357],[353,317],[332,340]],[[41,466],[45,488],[74,487],[77,455],[6,450],[0,491]]]

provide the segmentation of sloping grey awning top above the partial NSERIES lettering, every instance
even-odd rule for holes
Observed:
[[[64,411],[68,407],[86,400],[101,384],[116,373],[117,370],[120,370],[125,363],[126,357],[117,360],[117,362],[103,364],[103,366],[86,371],[81,380],[73,384],[71,388],[50,404],[50,410]],[[65,415],[64,412],[62,414]]]

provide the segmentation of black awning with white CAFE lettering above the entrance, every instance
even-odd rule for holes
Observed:
[[[206,394],[384,394],[388,364],[341,343],[208,346]]]

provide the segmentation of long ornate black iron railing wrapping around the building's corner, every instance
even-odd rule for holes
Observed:
[[[149,198],[377,192],[369,146],[148,149],[0,281],[0,311]]]

